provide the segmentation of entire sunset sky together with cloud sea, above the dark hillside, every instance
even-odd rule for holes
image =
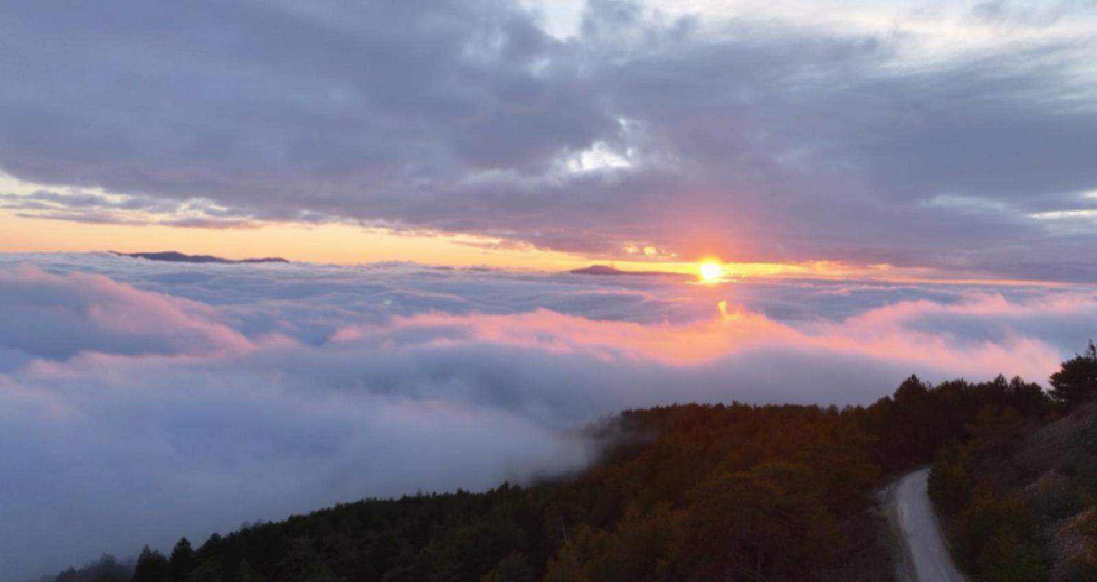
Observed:
[[[626,408],[1044,383],[1095,57],[1083,0],[0,2],[0,582]],[[291,262],[108,252],[166,250]]]

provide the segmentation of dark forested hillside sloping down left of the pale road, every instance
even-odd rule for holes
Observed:
[[[1003,377],[911,377],[893,397],[845,410],[631,410],[597,429],[606,453],[572,479],[348,503],[165,554],[146,547],[132,573],[56,580],[885,581],[881,484],[942,444],[950,453],[938,459],[963,442],[993,448],[1000,431],[1055,410],[1039,385]]]

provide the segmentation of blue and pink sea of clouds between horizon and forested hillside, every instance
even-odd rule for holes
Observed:
[[[577,470],[625,408],[1043,381],[1094,330],[1081,285],[0,254],[0,579]]]

